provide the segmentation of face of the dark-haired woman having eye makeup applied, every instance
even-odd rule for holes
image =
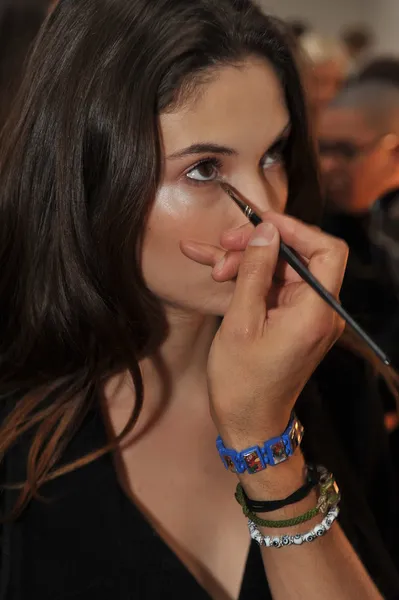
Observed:
[[[288,128],[279,81],[257,59],[221,67],[191,101],[161,115],[163,177],[144,237],[142,268],[147,286],[165,305],[225,313],[234,280],[215,281],[212,267],[187,258],[181,243],[221,248],[222,233],[247,222],[218,178],[258,211],[284,211],[281,151]]]

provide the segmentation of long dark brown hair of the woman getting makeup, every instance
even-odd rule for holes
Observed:
[[[32,436],[17,512],[43,482],[134,426],[139,360],[166,333],[140,267],[162,169],[158,115],[184,102],[204,71],[251,55],[270,61],[291,115],[288,211],[316,222],[317,170],[290,44],[249,0],[61,0],[41,29],[0,140],[0,396],[17,398],[0,456]],[[104,382],[126,369],[137,401],[124,432],[62,464]]]

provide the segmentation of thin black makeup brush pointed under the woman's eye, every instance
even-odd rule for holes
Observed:
[[[241,198],[237,196],[234,190],[225,182],[220,182],[220,186],[226,194],[230,196],[237,206],[242,210],[244,215],[251,221],[252,225],[259,225],[262,219],[257,215],[250,206],[248,206]],[[306,283],[310,285],[314,291],[319,294],[331,308],[333,308],[342,317],[346,323],[357,333],[357,335],[369,346],[369,348],[378,356],[382,362],[389,366],[391,361],[388,356],[381,350],[379,346],[371,339],[371,337],[360,327],[358,323],[342,308],[341,304],[334,298],[332,294],[312,275],[309,269],[303,264],[298,254],[289,246],[280,242],[280,256],[302,277]]]

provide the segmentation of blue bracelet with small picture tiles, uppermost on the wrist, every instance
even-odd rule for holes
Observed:
[[[304,429],[293,413],[287,429],[281,436],[274,437],[263,446],[251,446],[241,452],[226,448],[222,438],[216,440],[216,448],[226,469],[233,473],[259,473],[266,467],[285,462],[300,445]]]

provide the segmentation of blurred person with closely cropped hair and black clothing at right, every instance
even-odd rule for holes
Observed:
[[[342,303],[398,367],[398,87],[351,82],[320,120],[319,151],[324,228],[350,247]],[[388,394],[384,398],[390,420],[394,407]]]

